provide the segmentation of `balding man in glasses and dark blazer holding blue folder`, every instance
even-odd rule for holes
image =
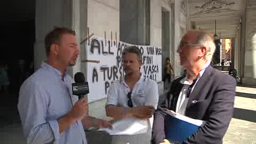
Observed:
[[[236,80],[210,66],[215,44],[212,35],[190,30],[181,39],[177,52],[186,76],[175,79],[165,100],[154,114],[152,143],[165,139],[166,110],[205,121],[182,143],[222,143],[234,110]]]

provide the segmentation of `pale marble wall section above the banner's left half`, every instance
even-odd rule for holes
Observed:
[[[111,39],[111,31],[119,40],[119,0],[88,0],[87,27],[96,37]]]

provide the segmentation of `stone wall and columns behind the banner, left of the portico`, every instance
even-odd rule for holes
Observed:
[[[43,44],[46,33],[55,26],[65,26],[76,31],[77,42],[93,34],[135,45],[162,47],[162,65],[169,57],[178,77],[183,70],[176,51],[181,36],[188,30],[187,10],[187,0],[36,1],[35,69],[46,59]],[[77,71],[86,73],[85,63],[81,62],[83,57],[68,69],[71,76]],[[163,82],[158,82],[158,87],[162,94]],[[104,118],[105,101],[106,98],[91,102],[89,113]],[[95,109],[102,113],[94,112]]]

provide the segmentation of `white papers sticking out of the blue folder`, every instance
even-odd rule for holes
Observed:
[[[197,125],[197,126],[202,126],[205,123],[205,121],[202,121],[200,119],[193,119],[193,118],[181,115],[179,113],[175,113],[172,110],[169,110],[169,111],[171,112],[171,114],[169,113],[170,115],[172,115],[173,117],[176,117],[178,119],[181,119],[182,121],[186,121],[188,123],[191,123],[191,124],[194,124],[194,125]]]

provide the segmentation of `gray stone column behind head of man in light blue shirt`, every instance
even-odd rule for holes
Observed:
[[[34,66],[35,70],[37,70],[41,67],[42,61],[47,59],[44,47],[45,35],[56,26],[72,28],[73,2],[68,0],[36,0],[35,3],[36,42],[34,44]],[[69,71],[69,74],[72,74],[71,71]]]

